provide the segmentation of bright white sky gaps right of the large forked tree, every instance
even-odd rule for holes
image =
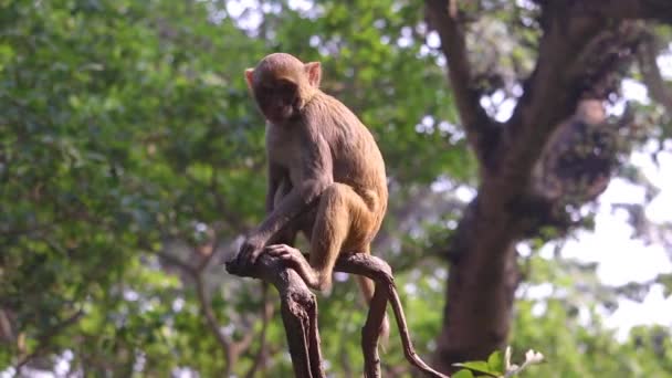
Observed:
[[[672,78],[672,55],[659,59],[658,63],[663,75]],[[645,86],[632,80],[623,81],[622,85],[627,98],[649,103]],[[647,218],[654,222],[672,222],[672,154],[659,153],[655,165],[651,158],[651,153],[655,150],[658,144],[651,141],[633,151],[630,162],[639,167],[660,190],[645,208]],[[631,239],[633,229],[628,223],[627,212],[612,210],[613,203],[643,202],[643,188],[620,178],[612,179],[598,199],[595,231],[579,231],[577,239],[569,240],[564,245],[563,256],[597,262],[598,276],[608,285],[643,283],[655,279],[659,273],[672,272],[671,251],[665,251],[660,243],[645,245],[639,239]],[[547,245],[542,254],[550,255],[552,249],[553,245]],[[618,328],[619,339],[623,339],[632,326],[641,324],[672,326],[672,297],[664,297],[661,285],[653,285],[642,303],[619,300],[619,308],[606,321],[607,326]]]

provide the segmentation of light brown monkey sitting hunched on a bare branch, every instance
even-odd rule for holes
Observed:
[[[266,218],[239,250],[254,263],[262,253],[293,267],[306,285],[332,287],[340,253],[370,253],[387,211],[385,161],[370,130],[340,101],[319,88],[322,65],[272,53],[245,80],[266,119]],[[308,260],[292,243],[309,242]],[[374,282],[358,277],[367,300]],[[389,334],[385,317],[380,336]]]

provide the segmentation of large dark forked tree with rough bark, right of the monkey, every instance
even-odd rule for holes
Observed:
[[[641,28],[626,19],[665,20],[672,13],[669,0],[536,2],[544,29],[537,62],[523,81],[524,93],[512,117],[495,124],[481,108],[480,95],[470,82],[460,12],[451,14],[449,1],[426,1],[481,171],[479,195],[468,206],[445,251],[451,266],[443,328],[434,355],[441,371],[454,370],[453,363],[484,359],[505,345],[518,282],[515,244],[543,225],[568,225],[552,221],[557,220],[552,213],[561,204],[561,196],[535,190],[538,161],[553,150],[547,146],[558,128],[580,116],[576,112],[579,102],[603,98],[613,73],[632,56],[641,41]],[[594,199],[606,187],[603,174],[606,170],[609,176],[610,166],[598,166],[600,171],[591,172],[594,181],[587,189],[591,191],[582,201]],[[553,174],[559,175],[560,168],[566,167],[557,166]]]

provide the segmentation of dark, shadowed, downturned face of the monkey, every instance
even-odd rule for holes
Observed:
[[[260,84],[254,97],[263,115],[272,123],[284,123],[298,112],[298,87],[287,80]]]

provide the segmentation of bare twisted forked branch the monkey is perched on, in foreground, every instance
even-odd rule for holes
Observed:
[[[380,377],[378,356],[379,329],[385,317],[387,302],[392,305],[401,335],[406,358],[428,377],[448,377],[429,367],[416,353],[411,343],[401,301],[395,286],[390,266],[379,258],[364,253],[342,255],[336,271],[365,275],[376,282],[366,325],[363,328],[361,347],[365,357],[365,376]],[[255,277],[272,283],[281,296],[282,317],[290,354],[296,377],[325,377],[322,369],[319,334],[317,329],[317,303],[315,295],[292,269],[269,255],[262,254],[250,265],[238,259],[227,263],[227,271],[239,276]]]

